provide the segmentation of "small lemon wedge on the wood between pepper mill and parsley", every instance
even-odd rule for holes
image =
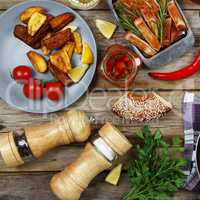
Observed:
[[[122,164],[115,167],[106,177],[105,181],[112,185],[117,185],[122,172]]]

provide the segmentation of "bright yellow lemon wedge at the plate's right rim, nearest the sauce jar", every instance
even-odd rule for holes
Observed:
[[[92,50],[89,47],[89,44],[87,42],[84,42],[83,44],[83,53],[82,53],[82,64],[92,64],[94,62],[94,57]]]

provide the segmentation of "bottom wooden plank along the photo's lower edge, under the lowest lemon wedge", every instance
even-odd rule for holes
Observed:
[[[0,199],[32,200],[34,197],[34,199],[56,200],[49,187],[49,182],[53,175],[52,173],[1,174]],[[105,173],[98,176],[83,193],[81,200],[116,200],[121,199],[129,191],[127,178],[124,174],[117,187],[105,183],[105,176]],[[172,199],[197,200],[199,198],[199,194],[179,191]]]

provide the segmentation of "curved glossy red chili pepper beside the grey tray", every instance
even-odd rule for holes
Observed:
[[[187,78],[198,71],[200,71],[200,51],[198,52],[193,62],[190,65],[184,67],[183,69],[168,73],[151,72],[149,73],[149,76],[151,76],[154,79],[164,81],[176,81]]]

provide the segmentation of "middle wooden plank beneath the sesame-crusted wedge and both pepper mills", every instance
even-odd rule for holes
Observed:
[[[139,94],[142,93],[140,92]],[[137,141],[135,141],[135,133],[140,130],[144,124],[149,124],[152,129],[161,128],[163,136],[166,138],[166,140],[170,140],[170,138],[175,135],[179,135],[183,139],[183,119],[181,106],[184,95],[183,91],[159,92],[161,96],[173,104],[174,109],[160,120],[154,120],[149,123],[126,121],[118,118],[110,111],[113,103],[122,94],[123,92],[91,92],[88,96],[81,98],[81,100],[79,100],[71,108],[81,109],[88,115],[94,116],[97,120],[97,125],[93,124],[93,129],[100,128],[107,121],[112,122],[131,140],[133,144],[137,143]],[[195,94],[200,95],[200,92],[195,92]],[[64,112],[62,111],[50,115],[33,115],[14,110],[3,102],[0,103],[0,110],[0,121],[2,121],[1,124],[7,127],[1,130],[2,132],[11,130],[12,128],[14,129],[16,127],[22,127],[30,123],[39,124],[47,122]],[[77,157],[82,147],[83,144],[61,147],[53,150],[37,162],[35,161],[16,169],[8,169],[4,166],[4,163],[0,161],[0,172],[61,170],[66,164],[69,164]]]

